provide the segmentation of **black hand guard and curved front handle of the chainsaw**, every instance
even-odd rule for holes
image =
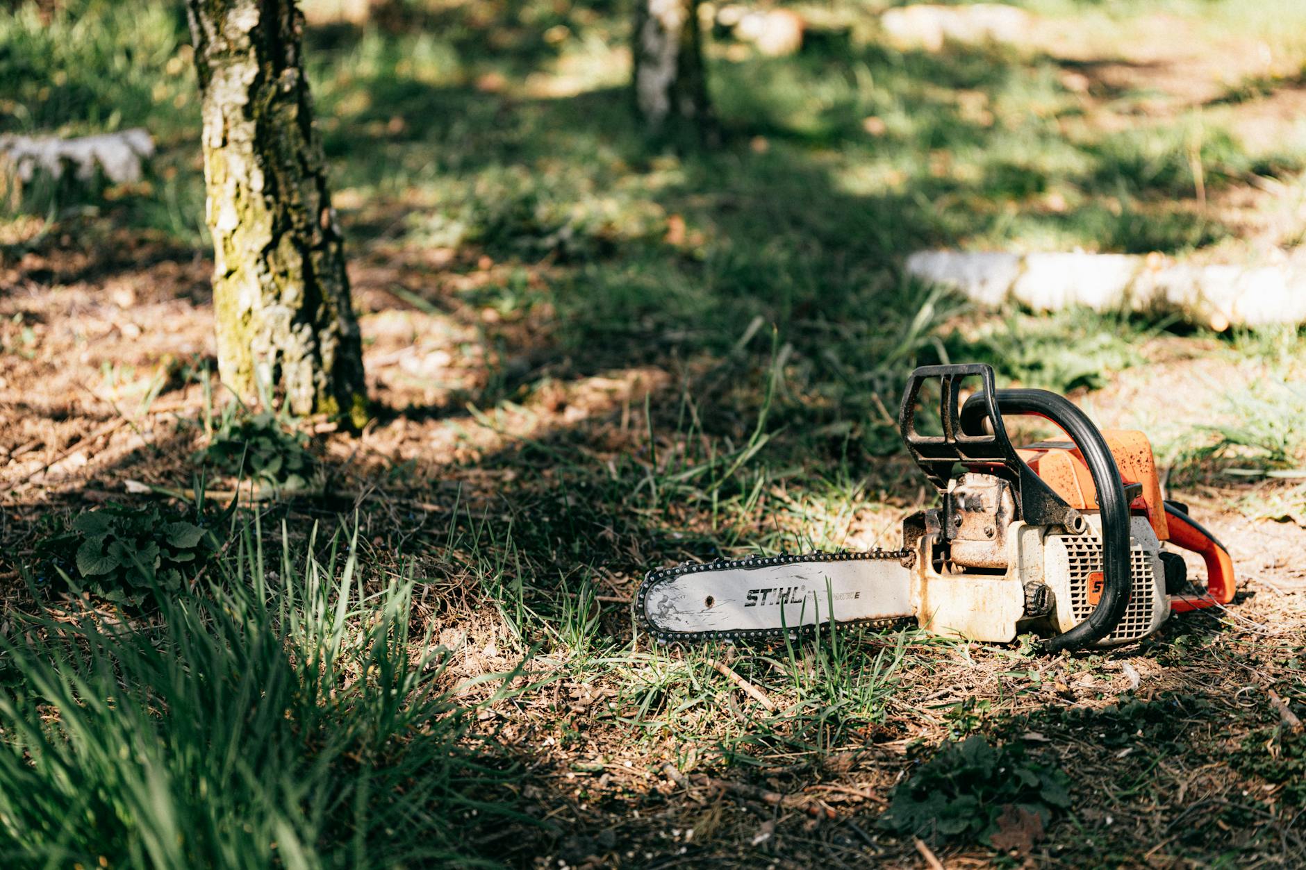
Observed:
[[[978,376],[983,389],[959,409],[961,381]],[[939,415],[943,435],[921,435],[916,428],[916,402],[929,379],[942,380]],[[1128,606],[1134,579],[1130,571],[1130,511],[1115,457],[1097,426],[1074,404],[1045,389],[996,389],[993,368],[982,363],[922,366],[912,372],[899,411],[899,427],[908,452],[940,491],[947,490],[952,466],[980,465],[1004,477],[1016,489],[1021,517],[1036,525],[1063,525],[1083,532],[1080,513],[1066,504],[1016,453],[1003,426],[1003,414],[1045,417],[1059,426],[1084,456],[1102,520],[1102,597],[1088,619],[1047,641],[1049,652],[1079,649],[1109,636]],[[985,421],[991,432],[985,432]]]

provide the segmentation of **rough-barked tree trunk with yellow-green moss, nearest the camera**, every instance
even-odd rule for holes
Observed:
[[[204,115],[218,371],[294,414],[366,419],[358,321],[294,0],[187,0]]]

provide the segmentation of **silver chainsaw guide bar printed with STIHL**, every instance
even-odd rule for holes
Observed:
[[[893,622],[912,615],[908,593],[914,560],[914,550],[868,550],[683,562],[650,571],[640,584],[635,607],[645,630],[661,643],[761,640],[810,634],[828,619],[832,606],[840,624]],[[855,568],[866,563],[891,563],[900,567],[901,573],[857,576],[859,572]],[[801,566],[802,570],[786,572],[789,566]],[[738,576],[722,585],[721,575],[731,572]],[[712,577],[717,585],[710,587],[710,594],[692,588],[693,581],[700,580],[695,575],[708,575],[701,577],[705,581]],[[884,580],[888,583],[870,585]],[[876,601],[878,592],[888,600]],[[673,601],[677,596],[679,600]],[[683,601],[693,601],[695,610],[682,610],[679,605]],[[845,604],[849,601],[855,604]],[[795,607],[797,618],[790,620],[786,611]],[[840,609],[845,609],[848,615],[838,614]],[[720,613],[721,619],[733,615],[738,620],[741,614],[750,614],[747,622],[751,627],[699,631],[670,627],[682,614],[703,622],[704,615],[713,610]]]

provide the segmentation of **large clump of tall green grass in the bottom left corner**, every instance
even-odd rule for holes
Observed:
[[[247,530],[209,597],[161,596],[153,622],[33,617],[0,641],[8,863],[471,861],[504,779],[410,635],[411,580],[364,589],[354,540],[283,547],[269,566]]]

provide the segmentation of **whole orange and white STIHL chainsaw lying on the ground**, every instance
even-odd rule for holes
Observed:
[[[917,423],[932,401],[935,426]],[[963,391],[973,391],[961,401]],[[1012,447],[1004,417],[1041,417],[1066,439]],[[899,411],[908,453],[939,495],[902,521],[896,550],[682,563],[650,571],[636,611],[661,641],[784,637],[828,623],[916,619],[934,634],[1050,652],[1115,647],[1171,613],[1233,600],[1233,562],[1165,498],[1143,432],[1098,431],[1043,389],[996,389],[985,364],[925,366]],[[942,434],[934,430],[942,428]],[[1204,589],[1187,577],[1196,553]]]

